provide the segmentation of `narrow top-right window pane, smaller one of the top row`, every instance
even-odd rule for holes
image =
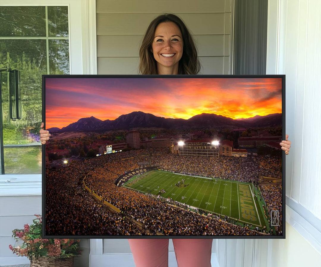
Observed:
[[[68,6],[48,6],[48,36],[68,37]]]

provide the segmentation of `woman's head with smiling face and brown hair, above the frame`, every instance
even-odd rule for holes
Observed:
[[[150,23],[139,57],[141,74],[186,75],[198,74],[201,69],[193,37],[174,14],[160,15]]]

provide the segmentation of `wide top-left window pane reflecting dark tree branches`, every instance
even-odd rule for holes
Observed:
[[[0,36],[46,36],[44,6],[1,6]]]

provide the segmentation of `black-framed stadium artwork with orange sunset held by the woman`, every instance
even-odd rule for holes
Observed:
[[[44,75],[43,236],[285,238],[285,76]]]

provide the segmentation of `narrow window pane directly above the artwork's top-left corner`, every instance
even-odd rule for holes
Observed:
[[[69,40],[49,40],[49,74],[69,74]]]

